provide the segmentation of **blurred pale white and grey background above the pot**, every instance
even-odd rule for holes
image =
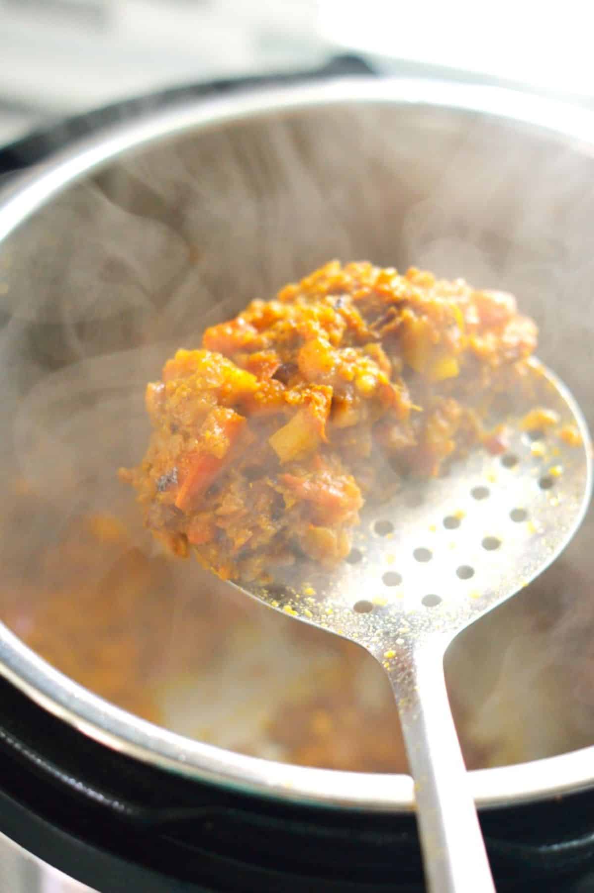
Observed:
[[[588,4],[499,0],[0,0],[0,144],[45,121],[185,82],[351,52],[392,73],[520,86],[594,105]]]

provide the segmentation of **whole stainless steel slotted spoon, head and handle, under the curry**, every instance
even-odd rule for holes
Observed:
[[[445,651],[559,555],[590,498],[591,446],[581,411],[538,361],[530,369],[533,387],[508,395],[505,417],[489,420],[508,426],[503,455],[476,448],[447,477],[406,485],[381,509],[364,511],[355,546],[337,570],[299,564],[282,569],[272,588],[241,590],[351,639],[385,668],[434,893],[495,889],[448,703]],[[535,406],[558,422],[523,430]],[[567,425],[580,438],[564,438]]]

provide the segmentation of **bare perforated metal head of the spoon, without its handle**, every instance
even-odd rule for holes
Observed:
[[[489,419],[506,426],[505,452],[475,447],[447,476],[365,506],[350,555],[331,572],[297,562],[272,587],[244,591],[390,662],[429,636],[454,638],[525,587],[581,523],[592,452],[567,388],[538,361],[529,377]],[[534,407],[548,417],[527,428]]]

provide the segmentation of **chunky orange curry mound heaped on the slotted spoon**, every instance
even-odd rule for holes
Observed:
[[[156,538],[224,578],[295,555],[331,567],[366,497],[495,448],[485,395],[517,386],[536,334],[506,293],[328,263],[165,363],[122,478]]]

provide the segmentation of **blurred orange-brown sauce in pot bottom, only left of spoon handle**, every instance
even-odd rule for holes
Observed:
[[[21,490],[21,517],[59,529],[55,506]],[[371,658],[260,605],[193,596],[196,564],[149,554],[134,533],[115,515],[72,517],[35,563],[13,556],[2,620],[73,680],[174,731],[297,764],[404,771]]]

